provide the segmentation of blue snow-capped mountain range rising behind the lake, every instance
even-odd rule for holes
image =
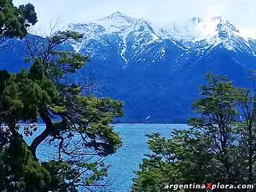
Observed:
[[[159,23],[115,12],[67,28],[83,34],[69,44],[91,58],[76,80],[93,74],[97,96],[124,101],[118,122],[184,123],[206,71],[248,86],[246,74],[256,69],[255,39],[221,17]],[[0,53],[2,68],[6,61]]]

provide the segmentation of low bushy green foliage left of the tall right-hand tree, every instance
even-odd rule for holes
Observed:
[[[221,177],[214,169],[213,154],[208,152],[212,142],[199,132],[174,130],[170,139],[159,134],[148,138],[152,154],[140,165],[132,191],[163,191],[165,185],[214,182]]]

